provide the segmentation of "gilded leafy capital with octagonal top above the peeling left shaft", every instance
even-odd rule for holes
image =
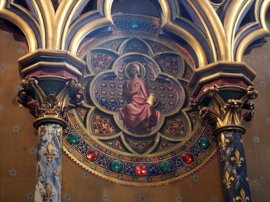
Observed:
[[[43,122],[65,127],[67,110],[83,105],[85,97],[79,80],[85,65],[78,57],[60,50],[39,49],[19,59],[20,72],[25,77],[17,100],[34,109],[35,128]]]

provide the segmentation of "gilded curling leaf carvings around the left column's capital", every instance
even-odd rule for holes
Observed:
[[[25,107],[33,108],[36,118],[51,116],[63,119],[69,109],[83,105],[85,97],[79,81],[66,78],[65,87],[57,95],[46,95],[38,79],[34,75],[25,77],[21,82],[23,89],[17,93],[17,101]],[[29,89],[34,90],[35,98],[28,93]],[[67,98],[71,90],[74,94]]]

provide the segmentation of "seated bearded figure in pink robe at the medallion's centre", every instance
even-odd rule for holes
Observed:
[[[133,62],[126,68],[130,79],[124,83],[123,95],[130,98],[131,103],[119,109],[123,116],[124,127],[134,134],[146,134],[154,128],[160,117],[160,112],[157,110],[160,101],[154,101],[153,106],[146,103],[152,92],[146,81],[140,78],[139,64]]]

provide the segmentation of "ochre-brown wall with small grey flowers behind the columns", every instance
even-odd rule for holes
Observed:
[[[16,35],[6,31],[0,30],[0,201],[33,201],[37,131],[32,123],[35,118],[16,102],[21,82],[18,58],[25,55],[27,49]],[[256,114],[251,122],[243,121],[242,125],[247,128],[243,139],[251,196],[253,201],[260,202],[268,202],[270,198],[269,51],[270,42],[253,49],[243,58],[257,72],[254,80],[259,91],[259,97],[254,101]],[[127,187],[99,179],[63,155],[62,201],[220,202],[223,201],[222,189],[218,155],[187,179],[149,188]]]

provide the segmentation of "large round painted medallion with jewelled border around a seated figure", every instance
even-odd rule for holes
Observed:
[[[188,106],[193,58],[159,34],[158,18],[112,19],[111,34],[88,40],[78,52],[87,62],[85,103],[65,117],[63,150],[83,169],[118,184],[160,186],[184,179],[217,153],[214,123]],[[79,144],[68,141],[73,133],[80,135]],[[207,148],[198,144],[201,137]],[[192,162],[185,162],[184,152]]]

